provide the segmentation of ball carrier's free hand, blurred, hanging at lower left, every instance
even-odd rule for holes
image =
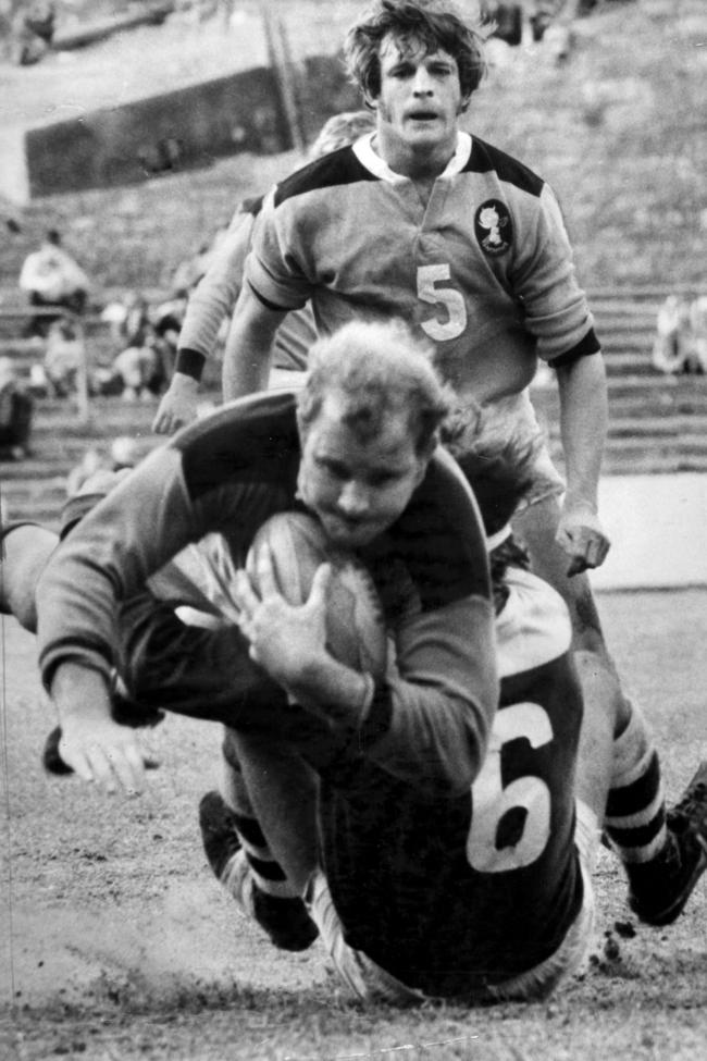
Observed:
[[[59,754],[84,781],[104,792],[123,790],[137,795],[145,784],[146,760],[135,730],[112,718],[66,715],[62,720]]]

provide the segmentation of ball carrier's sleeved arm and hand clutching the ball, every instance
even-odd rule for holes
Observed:
[[[376,680],[327,649],[328,577],[323,565],[308,601],[294,606],[277,590],[266,550],[258,591],[238,572],[234,595],[252,659],[382,769],[435,797],[463,792],[483,762],[498,702],[491,602],[468,595],[410,618]]]

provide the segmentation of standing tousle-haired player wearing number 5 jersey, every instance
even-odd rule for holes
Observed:
[[[444,441],[461,468],[479,451],[524,452],[531,485],[513,526],[569,607],[574,650],[592,654],[619,703],[618,735],[638,708],[622,693],[586,575],[609,547],[597,515],[605,369],[557,198],[460,129],[484,73],[483,40],[447,0],[379,0],[345,52],[375,131],[265,199],[227,341],[225,396],[265,385],[274,331],[307,299],[324,333],[394,314],[431,340],[456,392]],[[538,358],[557,374],[567,485],[528,395]]]

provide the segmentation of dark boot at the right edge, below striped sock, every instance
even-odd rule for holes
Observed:
[[[629,867],[629,905],[647,925],[669,925],[682,913],[707,869],[707,761],[667,815],[668,842],[644,865]]]

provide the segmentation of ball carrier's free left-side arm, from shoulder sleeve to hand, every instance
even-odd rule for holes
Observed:
[[[38,579],[39,667],[62,727],[61,755],[109,791],[139,790],[142,770],[135,733],[111,718],[119,602],[199,536],[181,454],[164,447],[84,516]]]

